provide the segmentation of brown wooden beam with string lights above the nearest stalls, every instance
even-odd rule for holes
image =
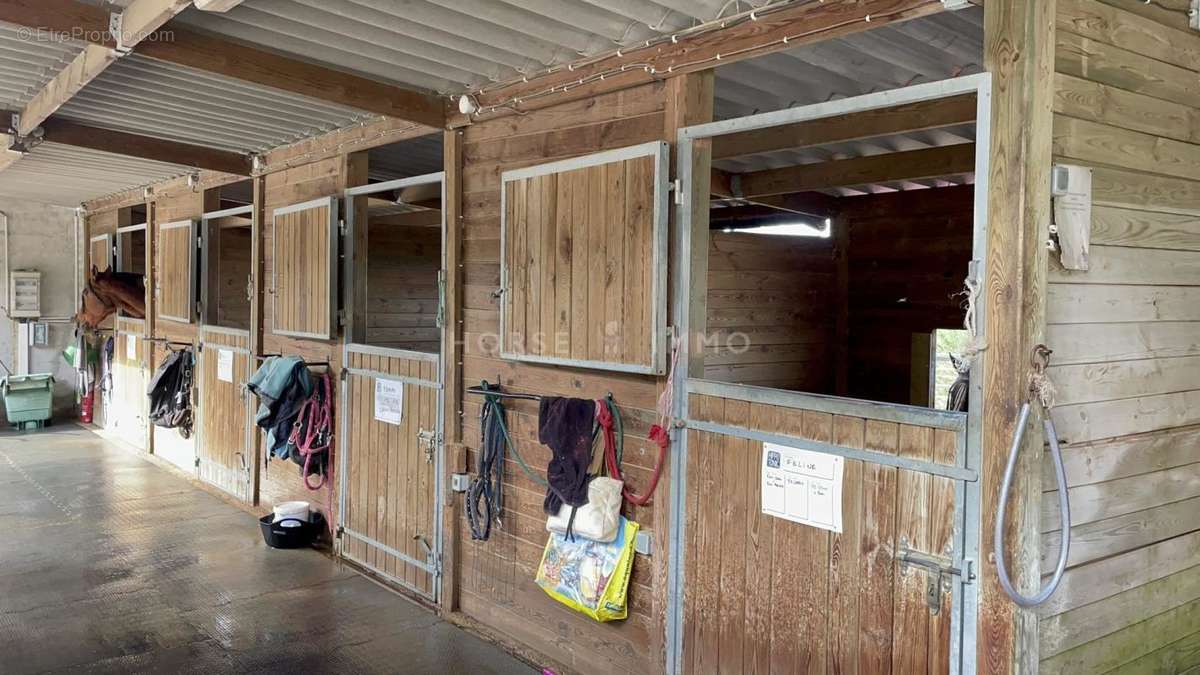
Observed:
[[[527,80],[493,86],[475,96],[480,110],[486,110],[476,115],[487,119],[545,108],[941,11],[940,0],[828,0],[760,11],[754,20],[730,19],[727,28],[683,34],[674,40],[622,50],[619,55],[589,56],[570,68],[560,66]],[[491,110],[490,106],[503,107]],[[467,115],[455,114],[450,126],[470,121]]]

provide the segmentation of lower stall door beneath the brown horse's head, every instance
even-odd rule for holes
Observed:
[[[118,436],[131,446],[146,448],[148,399],[146,344],[140,319],[119,317],[113,345],[113,405],[110,417]]]

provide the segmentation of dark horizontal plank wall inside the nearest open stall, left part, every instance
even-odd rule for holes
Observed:
[[[833,393],[833,243],[713,232],[704,378]]]

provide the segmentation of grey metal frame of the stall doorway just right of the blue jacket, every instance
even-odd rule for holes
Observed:
[[[342,289],[343,289],[343,305],[346,313],[349,315],[354,310],[354,204],[352,199],[354,197],[362,197],[367,195],[373,195],[377,192],[388,192],[391,190],[398,190],[403,187],[412,187],[415,185],[432,185],[437,183],[442,187],[442,270],[438,273],[438,328],[439,328],[439,340],[437,353],[431,352],[415,352],[412,350],[395,350],[389,347],[374,347],[371,345],[364,345],[354,342],[355,339],[366,339],[365,335],[358,336],[352,335],[353,333],[353,319],[346,322],[346,341],[342,348],[342,377],[341,395],[338,406],[342,414],[338,416],[338,490],[337,490],[337,548],[338,555],[360,565],[374,574],[386,579],[389,583],[396,584],[427,598],[428,601],[437,603],[442,598],[442,580],[444,571],[442,569],[443,550],[444,550],[444,527],[443,527],[443,515],[444,504],[442,500],[442,494],[445,489],[443,485],[443,472],[445,468],[445,372],[446,372],[446,339],[450,334],[449,327],[446,325],[445,316],[445,285],[446,285],[446,184],[445,184],[445,172],[428,173],[424,175],[415,175],[412,178],[402,178],[398,180],[388,180],[384,183],[373,183],[371,185],[362,185],[358,187],[349,187],[344,192],[346,204],[346,232],[343,233],[344,245],[342,246]],[[349,368],[347,364],[350,362],[350,354],[374,354],[382,357],[391,358],[403,358],[414,360],[427,360],[434,364],[437,372],[437,381],[427,381],[414,377],[406,377],[402,375],[390,375],[386,372],[376,372],[373,370]],[[436,429],[434,429],[434,448],[433,448],[433,494],[431,498],[433,500],[433,531],[431,532],[433,537],[432,551],[426,560],[415,560],[401,551],[392,549],[383,544],[382,542],[374,540],[371,537],[355,532],[347,527],[346,524],[346,492],[349,485],[347,484],[347,471],[348,460],[347,455],[350,449],[349,444],[349,417],[353,410],[353,399],[350,396],[350,388],[347,386],[347,381],[350,375],[358,375],[362,377],[371,377],[378,380],[391,380],[395,382],[403,382],[404,384],[412,384],[415,387],[427,387],[437,390],[437,417],[436,417]],[[416,589],[404,581],[403,579],[397,579],[391,574],[367,563],[366,561],[359,560],[347,551],[346,538],[353,537],[360,542],[367,543],[394,557],[403,561],[407,565],[412,565],[416,568],[424,569],[432,577],[431,589],[432,592],[425,592]]]

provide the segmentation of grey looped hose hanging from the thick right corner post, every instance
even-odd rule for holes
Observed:
[[[1001,587],[1020,607],[1037,607],[1058,590],[1063,572],[1067,571],[1067,557],[1070,555],[1070,500],[1067,495],[1067,472],[1062,466],[1062,450],[1058,448],[1058,435],[1054,428],[1054,419],[1050,417],[1050,408],[1054,407],[1055,388],[1046,377],[1045,369],[1050,363],[1051,351],[1045,345],[1033,347],[1033,374],[1030,376],[1028,399],[1021,405],[1021,414],[1016,420],[1016,429],[1013,432],[1013,447],[1008,453],[1008,466],[1004,467],[1004,482],[1000,488],[1000,503],[996,507],[996,528],[992,532],[992,546],[996,555],[996,575]],[[1025,436],[1025,426],[1030,420],[1030,407],[1033,401],[1042,405],[1045,418],[1042,425],[1045,430],[1046,440],[1050,442],[1050,455],[1054,458],[1055,480],[1058,483],[1058,514],[1062,521],[1062,543],[1058,548],[1058,563],[1055,566],[1054,575],[1044,587],[1034,596],[1022,596],[1008,575],[1004,566],[1004,512],[1008,510],[1008,491],[1013,485],[1013,472],[1016,470],[1016,456],[1021,452],[1021,438]]]

